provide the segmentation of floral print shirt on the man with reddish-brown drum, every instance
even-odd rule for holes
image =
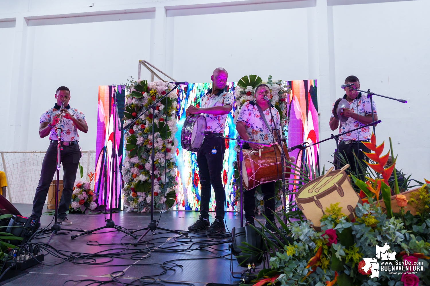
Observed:
[[[263,110],[264,117],[266,117],[267,124],[269,124],[270,129],[279,129],[279,111],[272,108],[273,118],[275,120],[272,124],[272,117],[270,116],[270,110],[267,108]],[[260,112],[258,112],[257,103],[252,105],[249,101],[245,102],[240,108],[239,116],[237,121],[243,121],[246,123],[246,132],[252,140],[258,141],[259,143],[272,144],[273,135],[272,130],[269,130],[264,123],[263,118],[261,118]]]

